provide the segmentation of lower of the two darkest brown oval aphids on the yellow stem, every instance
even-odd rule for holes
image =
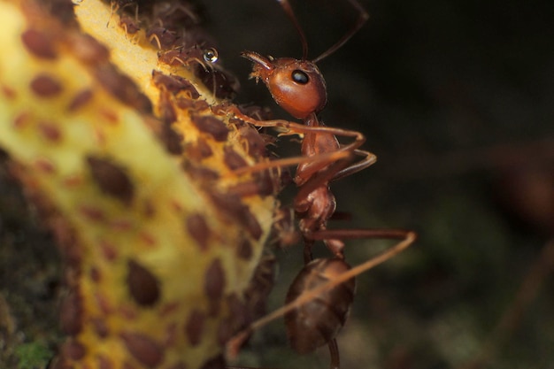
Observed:
[[[159,281],[146,267],[133,259],[127,261],[127,288],[136,304],[153,306],[158,303]]]

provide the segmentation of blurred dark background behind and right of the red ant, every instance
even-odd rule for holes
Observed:
[[[202,3],[222,62],[241,80],[238,100],[271,106],[276,117],[289,119],[263,84],[247,81],[250,62],[238,57],[242,50],[301,56],[296,30],[279,4]],[[357,17],[346,0],[291,4],[310,58]],[[328,88],[321,117],[329,126],[363,132],[365,149],[379,161],[333,184],[339,210],[352,215],[335,227],[411,228],[419,241],[358,278],[358,296],[339,338],[342,367],[461,368],[473,360],[473,367],[552,367],[552,4],[362,4],[370,13],[365,27],[319,62]],[[359,264],[388,244],[348,242],[347,258]],[[273,308],[302,266],[300,250],[275,251],[281,273]],[[326,368],[327,349],[297,355],[279,321],[258,333],[241,363]]]

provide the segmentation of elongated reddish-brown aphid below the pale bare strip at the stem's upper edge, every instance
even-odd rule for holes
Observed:
[[[127,75],[119,73],[113,65],[102,65],[94,71],[96,80],[110,95],[121,103],[143,112],[150,112],[152,104],[148,97],[136,87],[135,82]]]

